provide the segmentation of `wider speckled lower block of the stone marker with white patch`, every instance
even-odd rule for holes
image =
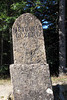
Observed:
[[[10,65],[14,100],[54,100],[47,64]]]

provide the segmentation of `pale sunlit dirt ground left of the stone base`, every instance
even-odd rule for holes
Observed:
[[[0,80],[0,100],[8,100],[8,96],[12,93],[12,85],[10,79]]]

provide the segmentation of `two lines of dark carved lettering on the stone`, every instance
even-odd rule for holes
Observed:
[[[39,31],[37,31],[39,29]],[[42,34],[42,26],[29,26],[29,27],[20,27],[17,26],[13,29],[15,33],[15,37],[17,39],[26,38],[26,37],[40,37]]]

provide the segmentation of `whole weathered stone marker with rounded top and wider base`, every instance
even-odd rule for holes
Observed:
[[[30,13],[22,14],[14,22],[12,37],[14,100],[53,100],[41,22]]]

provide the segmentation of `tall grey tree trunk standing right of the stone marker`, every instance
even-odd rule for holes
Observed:
[[[65,0],[59,0],[59,75],[66,67]]]

